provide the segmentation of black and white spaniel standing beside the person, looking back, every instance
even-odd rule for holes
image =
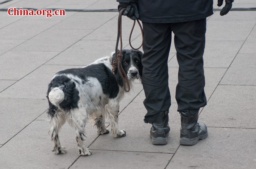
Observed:
[[[118,51],[119,52],[119,51]],[[129,83],[141,78],[142,52],[138,50],[123,50],[122,65]],[[110,118],[111,131],[114,137],[125,136],[125,131],[118,128],[119,102],[124,97],[124,87],[116,67],[112,73],[112,64],[116,59],[103,57],[83,68],[60,71],[52,78],[47,98],[49,101],[48,115],[50,120],[50,135],[54,143],[53,151],[64,154],[65,148],[60,145],[59,130],[67,121],[76,129],[76,140],[79,155],[91,155],[83,143],[85,124],[88,119],[94,119],[98,134],[109,133],[105,127],[105,115]]]

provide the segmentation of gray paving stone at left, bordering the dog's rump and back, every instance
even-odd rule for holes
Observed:
[[[80,66],[43,65],[0,93],[0,98],[46,99],[48,84],[60,70]]]

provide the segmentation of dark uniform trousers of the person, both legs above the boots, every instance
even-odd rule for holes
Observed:
[[[168,55],[171,32],[179,63],[176,100],[178,112],[196,113],[206,105],[203,54],[206,18],[177,23],[143,23],[142,84],[147,110],[144,122],[152,123],[160,112],[168,111],[171,95],[168,87]]]

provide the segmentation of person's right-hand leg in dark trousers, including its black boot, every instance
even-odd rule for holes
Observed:
[[[176,100],[181,115],[180,144],[193,145],[207,137],[207,128],[197,123],[200,107],[206,105],[203,54],[206,19],[173,23],[179,63]]]

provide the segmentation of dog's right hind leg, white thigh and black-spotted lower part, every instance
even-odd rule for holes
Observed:
[[[84,132],[85,124],[87,123],[86,111],[76,108],[71,111],[71,119],[68,119],[68,123],[76,129],[76,140],[79,149],[79,155],[91,155],[90,150],[85,147],[84,144]]]

